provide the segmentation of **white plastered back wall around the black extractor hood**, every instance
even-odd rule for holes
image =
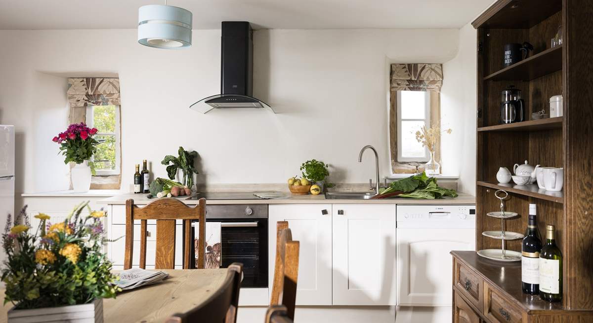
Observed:
[[[254,96],[278,114],[206,115],[188,107],[219,92],[219,30],[195,30],[187,50],[141,46],[136,30],[0,31],[0,43],[10,44],[0,47],[0,123],[17,127],[17,192],[68,188],[68,169],[51,141],[66,127],[65,77],[106,73],[121,80],[123,189],[142,159],[165,176],[160,160],[178,146],[199,152],[200,182],[284,182],[315,158],[333,166],[334,182],[364,183],[374,174],[371,154],[357,162],[365,144],[377,148],[387,175],[388,65],[452,59],[443,115],[465,120],[469,106],[456,102],[475,97],[474,79],[464,79],[475,77],[468,29],[256,31]],[[465,135],[467,122],[454,125],[455,143],[474,140]],[[475,154],[471,144],[459,146],[461,153],[444,154],[444,167],[463,170],[468,183],[464,165],[473,167]]]

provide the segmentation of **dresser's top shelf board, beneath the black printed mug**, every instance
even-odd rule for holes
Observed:
[[[530,81],[559,70],[562,70],[562,46],[537,53],[484,77],[484,80]]]

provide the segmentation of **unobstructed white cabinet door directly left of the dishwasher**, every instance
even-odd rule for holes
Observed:
[[[332,209],[333,305],[395,305],[396,206]]]

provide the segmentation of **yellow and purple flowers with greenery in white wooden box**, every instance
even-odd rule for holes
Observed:
[[[84,209],[90,215],[82,216]],[[103,253],[104,211],[91,211],[88,202],[76,206],[64,222],[50,224],[46,214],[35,215],[33,232],[27,206],[12,222],[8,215],[2,235],[7,260],[2,268],[6,284],[4,303],[17,309],[78,305],[97,298],[115,298],[116,276]],[[20,224],[23,219],[24,224]]]

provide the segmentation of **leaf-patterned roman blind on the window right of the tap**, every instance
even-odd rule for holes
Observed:
[[[391,91],[441,92],[442,64],[391,64]]]

